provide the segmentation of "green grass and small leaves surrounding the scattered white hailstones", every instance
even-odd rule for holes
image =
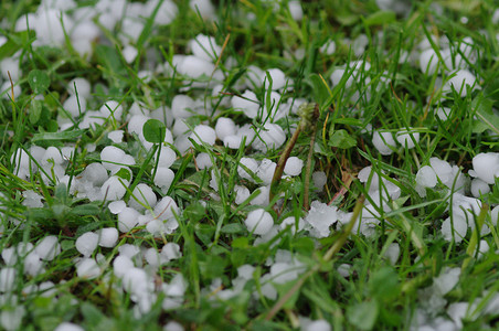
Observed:
[[[0,92],[0,252],[28,243],[35,245],[51,234],[59,238],[62,253],[44,263],[44,270],[36,275],[26,274],[29,257],[19,257],[13,265],[18,275],[13,288],[1,293],[0,321],[9,311],[21,309],[22,320],[13,329],[53,330],[61,322],[71,321],[85,330],[162,330],[164,324],[176,321],[185,330],[299,330],[307,318],[326,320],[332,330],[413,330],[417,327],[418,312],[426,313],[427,323],[438,318],[448,320],[449,307],[468,302],[471,306],[461,322],[464,329],[498,328],[497,310],[486,309],[489,301],[497,302],[495,293],[499,284],[498,228],[491,224],[490,216],[490,211],[499,204],[497,179],[490,185],[490,193],[479,197],[482,209],[469,220],[474,225],[460,243],[446,241],[440,232],[443,222],[453,215],[449,204],[452,193],[458,188],[449,189],[440,181],[421,197],[415,182],[418,169],[428,166],[431,158],[457,166],[468,179],[475,156],[498,151],[499,28],[491,21],[497,2],[421,1],[406,15],[400,15],[380,11],[374,1],[307,1],[302,4],[304,19],[299,21],[293,19],[284,4],[272,11],[265,1],[214,2],[219,19],[213,22],[202,20],[187,1],[176,1],[179,12],[169,25],[156,26],[153,17],[145,20],[144,31],[135,43],[139,55],[130,64],[124,60],[124,44],[114,30],[105,30],[104,36],[95,41],[89,58],[78,55],[70,35],[63,47],[35,47],[34,32],[14,32],[13,26],[22,14],[35,11],[39,2],[1,2],[0,33],[8,42],[0,46],[0,61],[18,52],[21,75],[12,83],[22,93],[12,98],[10,85]],[[439,6],[442,12],[434,6]],[[463,23],[463,17],[468,19],[467,23]],[[214,61],[221,75],[192,79],[169,71],[174,55],[188,54],[189,41],[200,33],[214,36],[219,45],[224,45],[220,61]],[[354,40],[360,34],[367,35],[369,44],[355,56],[344,39]],[[444,93],[442,81],[448,79],[452,73],[442,63],[431,75],[420,70],[417,61],[412,62],[418,56],[420,42],[431,35],[447,38],[453,56],[464,56],[458,45],[465,36],[473,39],[477,60],[464,57],[479,88],[470,88],[465,97],[459,90]],[[327,55],[320,47],[330,40],[336,42],[337,51]],[[432,41],[431,46],[442,57],[438,40]],[[305,55],[299,56],[299,52]],[[408,54],[408,60],[401,61],[404,54]],[[353,61],[362,64],[354,68]],[[166,73],[141,78],[139,72],[152,70],[155,63],[163,63]],[[103,274],[95,279],[77,277],[75,258],[81,254],[75,248],[76,239],[88,231],[117,226],[117,215],[107,209],[107,201],[89,201],[72,191],[85,167],[99,162],[100,150],[114,145],[136,162],[130,166],[131,181],[125,181],[126,175],[120,173],[127,190],[125,200],[141,199],[131,196],[139,183],[150,185],[159,199],[163,196],[153,178],[158,147],[164,140],[163,122],[172,129],[169,107],[177,94],[201,100],[203,111],[193,111],[187,119],[189,128],[199,124],[214,127],[217,118],[230,117],[240,126],[251,124],[256,132],[254,139],[258,139],[261,128],[273,121],[273,115],[264,114],[261,108],[259,116],[251,119],[226,103],[244,93],[241,79],[247,77],[252,65],[264,71],[279,68],[293,79],[274,105],[269,90],[259,82],[250,85],[261,106],[265,105],[270,113],[279,103],[318,104],[320,114],[314,122],[317,132],[311,130],[311,124],[304,128],[289,151],[290,156],[309,162],[311,172],[326,173],[323,190],[317,190],[307,180],[304,168],[298,177],[283,179],[280,183],[274,181],[268,204],[255,206],[251,202],[257,195],[255,190],[263,185],[262,180],[256,174],[254,181],[244,180],[237,173],[243,157],[278,162],[300,121],[298,115],[275,121],[286,132],[286,142],[267,152],[244,142],[238,149],[229,149],[220,140],[214,146],[193,142],[187,151],[170,146],[177,160],[170,167],[174,179],[168,195],[179,206],[174,215],[178,228],[157,237],[146,225],[120,233],[116,247],[98,247],[93,255]],[[330,76],[339,67],[348,74],[333,85]],[[4,75],[1,65],[0,70]],[[350,74],[359,75],[351,87],[348,86]],[[146,127],[146,139],[153,147],[144,148],[137,135],[128,131],[126,115],[123,118],[113,115],[103,125],[79,129],[77,125],[83,116],[71,118],[63,109],[68,97],[67,85],[74,77],[85,77],[93,86],[88,110],[99,109],[110,99],[121,104],[124,113],[134,103],[144,105],[145,109],[162,109],[159,113],[163,111],[167,119],[151,121]],[[3,82],[9,81],[4,77]],[[223,86],[216,96],[212,96],[214,83]],[[38,95],[41,97],[35,98]],[[450,109],[446,120],[436,116],[442,107]],[[61,131],[57,124],[61,117],[73,126]],[[393,134],[408,130],[415,148],[397,145],[393,153],[382,156],[372,143],[368,125]],[[117,129],[125,130],[125,138],[120,143],[113,143],[107,134]],[[309,159],[311,135],[316,136]],[[72,149],[64,169],[68,182],[57,183],[53,163],[42,169],[32,154],[33,146]],[[20,150],[33,163],[26,178],[15,170]],[[194,161],[201,152],[209,154],[212,168],[198,169]],[[41,170],[35,171],[34,163]],[[364,185],[357,175],[369,166],[373,173]],[[375,194],[369,192],[374,177],[382,179]],[[211,185],[213,179],[216,185]],[[245,185],[252,192],[244,203],[235,203],[235,185]],[[387,207],[383,209],[379,201],[383,192],[393,189],[400,190],[400,197],[384,197]],[[23,204],[23,192],[28,190],[43,197],[42,206]],[[307,229],[295,234],[295,228],[288,226],[262,241],[244,224],[246,215],[257,207],[269,212],[276,225],[289,216],[298,224],[298,218],[307,216],[306,206],[312,201],[333,201],[331,206],[340,213],[352,214],[340,215],[341,222],[336,222],[329,236],[322,238],[312,237]],[[359,225],[359,218],[364,217],[365,222],[368,212],[362,206],[369,203],[379,216],[373,221],[375,225],[365,231]],[[150,206],[145,207],[152,211]],[[482,224],[490,228],[490,234],[478,238]],[[482,255],[478,254],[480,239],[489,245],[488,253]],[[167,243],[180,245],[182,256],[158,269],[146,267],[153,275],[158,300],[149,311],[137,313],[138,305],[123,290],[121,280],[113,273],[113,260],[126,244],[160,250]],[[394,244],[400,254],[391,261],[389,256],[396,249]],[[276,261],[287,260],[283,257],[286,255],[296,261],[297,275],[287,282],[274,284],[274,297],[268,286],[269,271]],[[138,259],[136,266],[148,265],[145,257]],[[254,271],[237,288],[242,281],[237,268],[245,265]],[[344,265],[349,271],[342,276],[340,270]],[[0,270],[4,268],[6,260],[2,260]],[[431,297],[433,280],[449,268],[460,270],[456,286],[443,297]],[[164,309],[166,295],[160,288],[177,275],[183,275],[185,293],[177,308]],[[46,281],[52,282],[53,291],[40,288]],[[29,287],[33,290],[29,291]],[[234,289],[237,289],[234,296],[222,298]],[[443,303],[437,305],[436,299]]]

